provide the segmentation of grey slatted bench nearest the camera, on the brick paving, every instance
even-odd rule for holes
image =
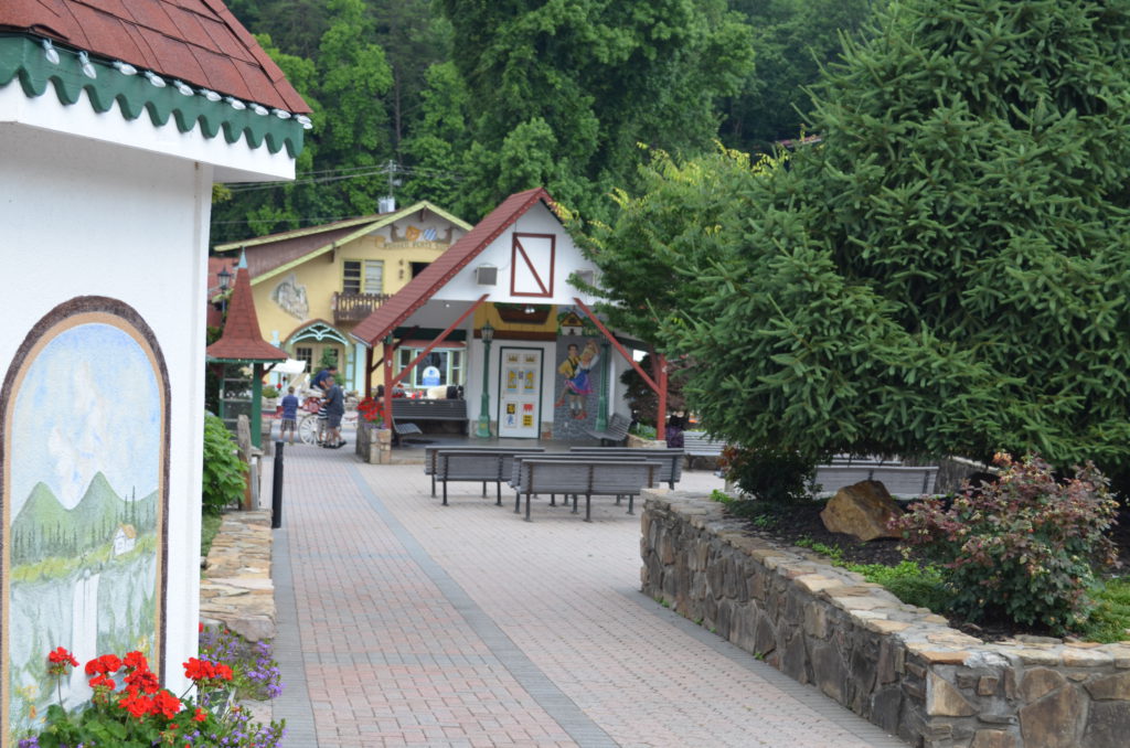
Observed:
[[[634,514],[633,502],[644,488],[654,484],[659,469],[657,462],[644,460],[620,461],[597,459],[519,458],[519,496],[525,494],[525,521],[530,521],[530,498],[534,494],[565,494],[573,496],[573,513],[577,512],[577,496],[584,495],[584,521],[592,522],[592,497],[628,497],[628,514]],[[516,508],[516,507],[515,507]]]

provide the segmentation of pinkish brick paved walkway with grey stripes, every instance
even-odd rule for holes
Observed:
[[[527,523],[472,484],[429,493],[420,466],[288,447],[288,746],[904,745],[642,595],[625,507]]]

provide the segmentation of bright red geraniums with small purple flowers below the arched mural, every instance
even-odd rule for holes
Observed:
[[[62,681],[77,666],[63,647],[47,654],[47,675],[55,679],[60,702]],[[184,675],[192,680],[189,690],[195,688],[194,697],[162,688],[140,652],[103,654],[86,663],[86,675],[94,689],[90,704],[75,712],[52,704],[42,732],[20,740],[19,748],[271,748],[285,733],[285,723],[251,723],[246,712],[231,706],[227,692],[234,673],[223,663],[189,658]]]

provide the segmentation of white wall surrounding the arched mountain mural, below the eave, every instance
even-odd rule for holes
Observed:
[[[180,663],[195,654],[199,616],[212,167],[7,123],[0,123],[0,253],[8,281],[0,325],[3,371],[36,322],[59,304],[89,295],[132,306],[165,357],[171,389],[165,666],[169,687],[180,693],[186,685]]]

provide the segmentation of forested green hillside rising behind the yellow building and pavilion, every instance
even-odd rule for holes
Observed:
[[[428,199],[469,221],[544,184],[588,217],[640,143],[800,134],[805,87],[878,0],[231,0],[313,107],[286,185],[220,191],[212,242]]]

